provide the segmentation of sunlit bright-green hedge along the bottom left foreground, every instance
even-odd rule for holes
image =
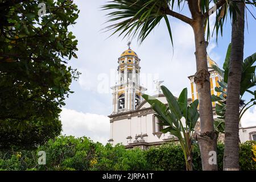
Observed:
[[[38,152],[46,152],[46,165],[38,165]],[[82,137],[58,137],[35,151],[0,152],[1,170],[140,170],[148,169],[144,152],[93,143]]]

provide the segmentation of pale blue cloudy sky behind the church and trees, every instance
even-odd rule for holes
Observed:
[[[73,81],[66,105],[60,114],[63,123],[63,134],[75,137],[86,136],[95,142],[106,143],[109,139],[110,123],[108,115],[112,113],[112,92],[110,86],[115,85],[118,67],[118,57],[127,49],[128,39],[105,32],[106,14],[100,6],[106,0],[74,1],[80,14],[77,24],[69,30],[79,40],[77,51],[78,59],[69,61],[72,68],[78,69],[81,76],[78,81]],[[254,15],[256,10],[250,9]],[[181,13],[188,15],[187,9]],[[153,80],[163,80],[171,92],[178,96],[183,88],[188,88],[191,93],[188,76],[196,72],[195,42],[192,28],[170,17],[174,47],[171,46],[170,37],[164,22],[160,23],[153,32],[138,45],[137,39],[131,40],[131,49],[137,52],[141,59],[141,85],[148,88],[147,93],[154,93]],[[211,17],[210,27],[213,28]],[[255,52],[256,24],[255,19],[247,13],[245,30],[244,57]],[[110,36],[110,37],[109,37]],[[216,35],[209,41],[208,55],[220,67],[224,63],[226,49],[231,40],[231,25],[227,20],[223,36]],[[247,95],[245,99],[250,99]],[[251,107],[243,116],[242,126],[256,125],[256,107]]]

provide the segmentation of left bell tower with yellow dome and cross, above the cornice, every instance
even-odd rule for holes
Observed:
[[[113,90],[113,113],[132,111],[142,102],[142,94],[146,91],[139,83],[140,59],[133,50],[131,42],[128,49],[118,58],[118,82]]]

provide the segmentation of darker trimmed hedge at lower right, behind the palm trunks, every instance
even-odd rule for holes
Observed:
[[[240,168],[242,171],[256,170],[251,146],[256,144],[248,141],[240,145]],[[158,147],[151,147],[146,152],[146,158],[153,170],[185,170],[185,162],[181,147],[177,144],[164,144]],[[202,170],[200,151],[198,146],[193,147],[193,169]],[[223,170],[224,144],[217,144],[218,170]]]

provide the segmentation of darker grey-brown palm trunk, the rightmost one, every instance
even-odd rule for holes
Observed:
[[[228,90],[225,115],[224,170],[237,171],[239,167],[239,104],[245,31],[245,5],[238,3],[240,15],[232,23],[232,49],[230,55]]]

